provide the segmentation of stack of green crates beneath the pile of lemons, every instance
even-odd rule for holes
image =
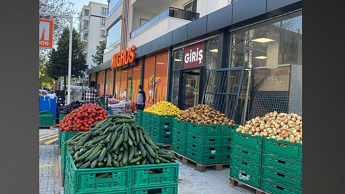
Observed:
[[[176,115],[157,115],[143,112],[142,127],[157,143],[172,144],[173,119]]]

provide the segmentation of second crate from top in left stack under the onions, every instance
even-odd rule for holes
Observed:
[[[245,162],[251,162],[253,164],[261,165],[262,155],[250,152],[247,150],[238,149],[236,147],[231,147],[231,158],[236,158]]]

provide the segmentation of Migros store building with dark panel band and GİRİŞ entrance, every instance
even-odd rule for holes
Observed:
[[[278,104],[302,98],[302,0],[157,2],[110,0],[105,25],[107,40],[113,39],[103,64],[88,71],[101,94],[135,103],[136,88],[143,85],[146,107],[167,100],[187,109],[215,101],[204,99],[208,88],[233,90],[210,83],[220,79],[212,78],[214,69],[243,68],[236,85],[236,123],[267,111],[266,101],[256,106],[262,98],[283,99]],[[228,75],[226,85],[231,85],[230,77],[235,76]],[[225,107],[231,104],[220,101]],[[298,103],[288,102],[282,111],[302,115],[302,101]]]

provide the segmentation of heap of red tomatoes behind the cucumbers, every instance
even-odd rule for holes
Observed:
[[[83,104],[66,115],[58,124],[60,131],[89,131],[90,125],[97,123],[108,116],[108,111],[102,106]]]

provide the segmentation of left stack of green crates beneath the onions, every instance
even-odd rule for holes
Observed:
[[[230,177],[260,189],[262,137],[232,132]]]

